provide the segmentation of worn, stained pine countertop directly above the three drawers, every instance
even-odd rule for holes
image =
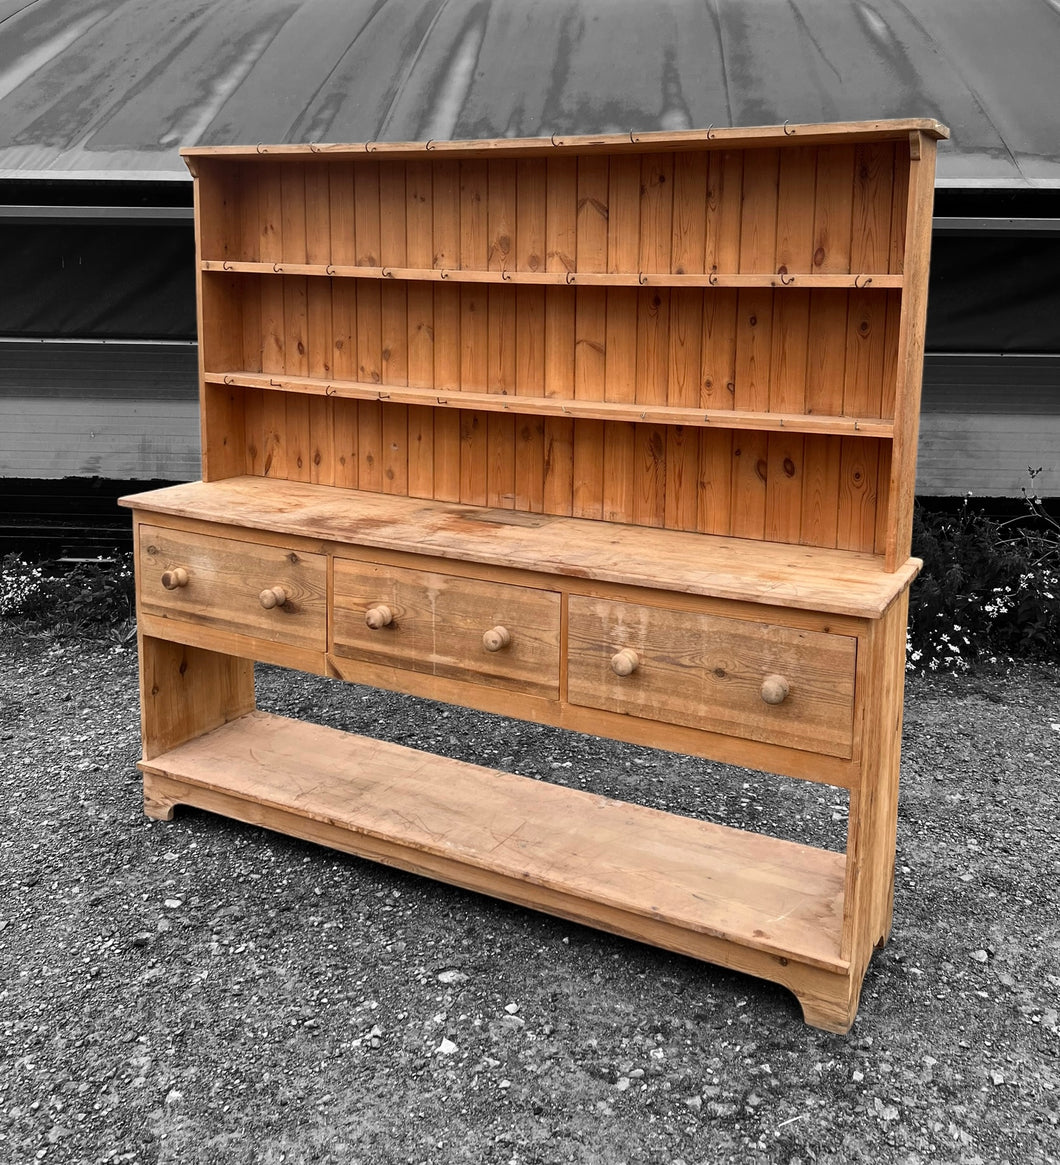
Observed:
[[[239,476],[122,497],[156,514],[652,591],[878,619],[916,577],[881,555]]]

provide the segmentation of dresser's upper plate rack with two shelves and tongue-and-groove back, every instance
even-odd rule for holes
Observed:
[[[934,143],[745,144],[196,156],[204,475],[903,562]]]

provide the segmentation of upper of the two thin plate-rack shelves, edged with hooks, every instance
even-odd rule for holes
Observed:
[[[352,263],[243,262],[231,259],[204,259],[204,271],[234,271],[249,275],[323,275],[334,278],[418,280],[448,283],[530,283],[544,287],[715,287],[715,288],[900,288],[900,275],[877,273],[763,273],[732,271],[522,271],[502,268],[367,267]]]

